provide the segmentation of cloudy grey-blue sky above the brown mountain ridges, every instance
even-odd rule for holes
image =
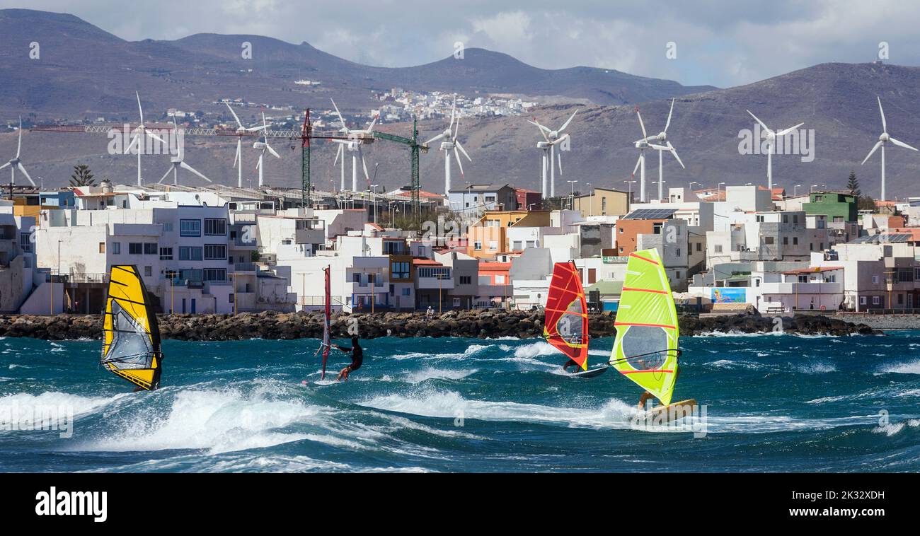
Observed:
[[[823,62],[920,64],[920,3],[874,0],[618,2],[613,0],[29,0],[126,40],[192,33],[265,35],[360,63],[408,66],[454,43],[502,51],[543,68],[588,65],[737,86]],[[676,58],[669,59],[671,50]]]

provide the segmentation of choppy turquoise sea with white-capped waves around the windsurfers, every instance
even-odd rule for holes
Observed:
[[[339,383],[346,359],[320,382],[316,340],[167,340],[162,389],[132,393],[98,341],[0,339],[0,471],[920,470],[918,332],[684,337],[674,399],[706,415],[672,427],[635,426],[638,386],[571,378],[539,339],[362,344]],[[69,438],[21,429],[67,411]]]

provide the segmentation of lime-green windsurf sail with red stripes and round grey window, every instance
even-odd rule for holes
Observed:
[[[671,285],[657,250],[629,255],[615,326],[610,364],[661,404],[670,404],[680,333]]]

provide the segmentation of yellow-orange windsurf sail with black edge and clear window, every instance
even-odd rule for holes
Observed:
[[[135,266],[113,266],[102,318],[100,363],[147,391],[159,387],[163,355],[156,314]]]

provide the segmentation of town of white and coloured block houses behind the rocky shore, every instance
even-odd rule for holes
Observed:
[[[597,187],[545,209],[530,190],[466,184],[425,192],[457,222],[441,235],[393,228],[403,189],[311,208],[283,188],[19,188],[0,201],[0,311],[96,314],[114,264],[136,265],[164,313],[318,309],[325,268],[336,310],[530,309],[558,262],[615,310],[629,255],[650,247],[678,301],[705,310],[920,308],[920,199],[858,211],[848,192],[749,185],[638,203]]]

